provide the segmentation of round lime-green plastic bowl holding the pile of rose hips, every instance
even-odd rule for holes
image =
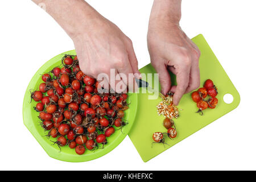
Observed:
[[[68,146],[61,147],[60,151],[57,144],[52,145],[53,142],[51,142],[51,140],[55,141],[56,138],[50,137],[47,139],[47,137],[45,137],[48,134],[48,131],[44,131],[40,126],[38,118],[39,113],[33,108],[37,102],[32,100],[30,103],[30,90],[38,90],[40,83],[43,82],[41,78],[42,74],[47,73],[51,71],[52,68],[60,65],[61,58],[64,56],[64,54],[76,55],[76,52],[75,50],[67,51],[53,57],[51,60],[47,61],[47,63],[45,63],[32,77],[30,84],[28,84],[23,100],[23,122],[27,129],[35,137],[35,139],[38,140],[38,143],[52,158],[66,162],[85,162],[88,160],[97,159],[105,154],[108,154],[108,152],[117,147],[118,144],[121,143],[129,133],[131,127],[133,126],[137,111],[138,94],[129,94],[129,97],[127,98],[127,102],[130,103],[130,105],[129,109],[125,111],[125,119],[127,122],[129,122],[129,124],[122,128],[122,132],[121,130],[116,130],[111,137],[108,137],[108,143],[104,146],[103,149],[98,148],[95,151],[89,151],[86,149],[83,155],[77,155],[75,149],[71,149]]]

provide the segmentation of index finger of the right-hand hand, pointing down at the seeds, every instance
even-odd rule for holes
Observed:
[[[177,67],[177,87],[174,93],[174,105],[178,105],[180,102],[181,97],[185,93],[185,90],[188,87],[189,82],[189,72],[191,68],[191,62],[189,60],[183,60],[184,64]]]

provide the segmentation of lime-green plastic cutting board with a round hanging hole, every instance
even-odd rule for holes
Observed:
[[[130,130],[129,137],[144,162],[147,162],[156,155],[187,138],[189,135],[209,125],[209,123],[222,117],[222,115],[229,113],[240,103],[239,93],[230,81],[228,75],[226,75],[226,72],[212,52],[212,49],[210,49],[203,35],[197,35],[192,40],[201,51],[199,60],[201,86],[203,86],[204,81],[208,78],[213,80],[218,88],[218,105],[215,109],[205,110],[204,115],[199,115],[196,113],[198,109],[196,103],[191,99],[191,93],[185,94],[178,106],[180,117],[174,119],[177,129],[177,137],[173,140],[165,137],[165,142],[169,146],[163,146],[162,143],[155,143],[151,147],[152,142],[154,142],[152,140],[153,133],[157,131],[167,132],[163,127],[164,117],[162,115],[159,116],[156,113],[156,105],[159,104],[161,98],[159,97],[157,100],[148,100],[149,93],[139,93],[137,115],[134,125]],[[146,65],[146,67],[143,67],[140,71],[141,73],[156,73],[151,64]],[[172,78],[174,78],[174,76],[172,76]],[[154,78],[152,78],[152,80],[154,80]],[[154,82],[151,86],[154,87]],[[223,100],[224,95],[227,93],[232,94],[233,96],[233,102],[231,104],[226,104]]]

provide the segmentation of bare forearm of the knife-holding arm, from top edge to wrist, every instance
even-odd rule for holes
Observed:
[[[97,19],[103,18],[84,0],[32,0],[37,5],[44,3],[46,11],[74,39],[93,29]],[[94,23],[92,23],[94,22]]]

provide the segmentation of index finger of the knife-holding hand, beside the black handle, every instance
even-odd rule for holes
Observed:
[[[133,43],[131,43],[131,41],[127,43],[126,51],[128,53],[128,59],[130,61],[131,69],[133,70],[134,74],[137,73],[134,76],[140,79],[141,73],[139,72],[139,68],[138,68],[138,60],[134,52]]]

